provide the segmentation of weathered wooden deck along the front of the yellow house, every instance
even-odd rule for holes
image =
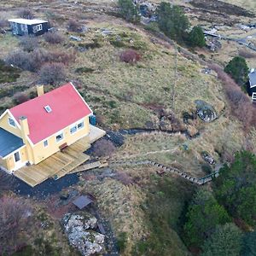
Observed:
[[[90,148],[90,143],[94,143],[105,134],[105,131],[90,125],[89,136],[79,139],[79,141],[67,148],[63,148],[60,152],[49,156],[49,158],[43,160],[38,165],[20,168],[14,172],[14,175],[28,185],[35,187],[49,177],[58,179],[68,173],[74,173],[72,172],[74,169],[90,159],[89,155],[83,153]]]

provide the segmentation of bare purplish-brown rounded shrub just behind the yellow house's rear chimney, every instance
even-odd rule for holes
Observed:
[[[60,84],[66,79],[66,70],[63,63],[45,63],[39,71],[40,82],[43,84]]]

